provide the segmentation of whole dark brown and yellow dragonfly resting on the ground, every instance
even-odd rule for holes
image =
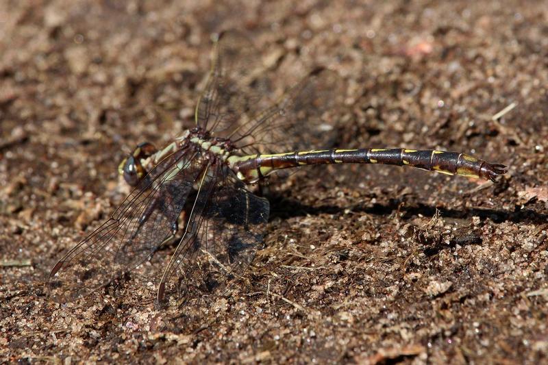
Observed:
[[[257,55],[241,32],[214,40],[195,127],[163,149],[138,144],[123,160],[119,172],[132,191],[53,266],[47,283],[53,300],[96,292],[169,244],[171,255],[153,277],[159,303],[169,292],[225,285],[251,263],[269,219],[269,201],[251,186],[286,168],[392,164],[493,181],[507,171],[458,152],[330,148],[325,121],[343,95],[341,77],[315,68],[268,105],[260,97],[268,85],[256,82],[264,70]]]

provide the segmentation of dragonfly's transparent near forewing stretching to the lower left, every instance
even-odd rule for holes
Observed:
[[[162,160],[101,227],[53,266],[50,295],[66,302],[145,262],[172,234],[192,184],[207,162],[190,147]]]

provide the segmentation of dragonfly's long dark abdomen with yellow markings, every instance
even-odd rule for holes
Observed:
[[[458,152],[415,149],[324,149],[273,155],[231,156],[229,164],[240,179],[257,181],[273,171],[316,164],[389,164],[412,166],[447,175],[495,180],[506,166],[490,164]]]

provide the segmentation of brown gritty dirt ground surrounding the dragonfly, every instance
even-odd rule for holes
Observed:
[[[0,360],[545,360],[547,24],[544,0],[0,0]],[[50,301],[55,260],[127,191],[119,162],[192,126],[230,28],[288,85],[318,64],[345,80],[337,146],[508,174],[307,168],[269,184],[264,248],[227,292],[158,307],[127,275]]]

